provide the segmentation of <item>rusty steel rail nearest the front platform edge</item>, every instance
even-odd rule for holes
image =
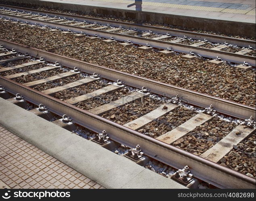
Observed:
[[[38,92],[22,84],[0,76],[0,84],[8,92],[20,93],[26,100],[36,105],[44,104],[57,115],[64,113],[78,123],[95,132],[106,130],[109,137],[116,142],[129,147],[140,144],[143,152],[156,160],[164,162],[174,168],[183,168],[188,165],[195,177],[204,180],[219,188],[254,189],[255,179],[219,164],[193,155],[174,146],[165,144],[132,129],[118,125],[107,119],[94,115],[73,105],[69,105],[57,98]],[[97,125],[97,126],[95,126]]]

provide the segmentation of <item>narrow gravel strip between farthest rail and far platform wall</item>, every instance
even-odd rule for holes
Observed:
[[[206,34],[212,34],[212,35],[222,35],[222,36],[228,36],[228,37],[234,37],[234,38],[240,38],[240,39],[249,39],[249,40],[255,40],[255,37],[248,38],[246,36],[233,36],[233,35],[226,35],[223,33],[214,33],[212,31],[207,30],[199,30],[194,28],[188,28],[188,27],[180,27],[180,26],[174,26],[174,25],[167,25],[167,24],[159,24],[149,21],[141,21],[138,19],[132,19],[132,18],[124,18],[122,16],[112,16],[112,15],[105,15],[105,14],[95,14],[94,12],[81,12],[81,11],[70,11],[70,10],[59,10],[59,9],[52,9],[44,6],[36,6],[35,4],[23,4],[23,3],[14,3],[14,2],[6,2],[6,1],[0,1],[1,4],[7,4],[7,5],[13,5],[13,6],[19,6],[19,7],[26,7],[26,8],[32,8],[32,9],[38,9],[38,10],[45,10],[45,11],[52,11],[52,12],[59,12],[59,13],[67,13],[67,14],[74,14],[74,15],[80,15],[80,16],[86,16],[86,17],[93,17],[93,18],[101,18],[101,19],[108,19],[113,21],[122,21],[122,22],[128,22],[128,23],[138,23],[142,25],[149,25],[149,26],[155,26],[155,27],[165,27],[170,29],[178,29],[178,30],[185,30],[185,31],[193,31],[197,33],[206,33]]]

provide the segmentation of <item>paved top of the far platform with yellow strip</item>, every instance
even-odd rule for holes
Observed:
[[[135,10],[132,0],[41,0]],[[255,23],[255,0],[143,0],[142,11]]]

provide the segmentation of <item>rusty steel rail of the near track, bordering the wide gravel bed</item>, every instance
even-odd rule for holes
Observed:
[[[151,92],[154,92],[156,94],[161,94],[164,96],[173,96],[173,95],[179,94],[179,96],[182,97],[183,101],[192,105],[197,105],[199,107],[209,107],[212,104],[214,105],[214,108],[216,109],[216,111],[220,113],[224,113],[226,115],[230,115],[232,117],[248,119],[250,116],[254,116],[255,118],[255,112],[256,112],[255,107],[242,105],[242,104],[235,103],[222,98],[210,96],[207,94],[202,94],[199,92],[173,86],[170,84],[165,84],[162,82],[157,82],[155,80],[143,78],[140,76],[131,75],[125,72],[120,72],[118,70],[113,70],[113,69],[99,66],[96,64],[90,64],[88,62],[83,62],[78,59],[73,59],[73,58],[66,57],[63,55],[58,55],[55,53],[50,53],[34,47],[19,45],[17,43],[6,41],[4,39],[0,39],[0,44],[4,45],[4,47],[8,49],[15,48],[19,52],[29,53],[31,56],[34,56],[34,57],[42,56],[50,62],[56,62],[56,61],[61,62],[63,66],[67,66],[69,68],[73,68],[74,66],[76,66],[80,68],[82,71],[90,74],[93,74],[94,72],[96,72],[97,74],[101,75],[103,78],[106,78],[109,80],[120,79],[124,81],[125,84],[134,86],[137,88],[141,88],[142,86],[145,86],[146,88],[149,88]]]

